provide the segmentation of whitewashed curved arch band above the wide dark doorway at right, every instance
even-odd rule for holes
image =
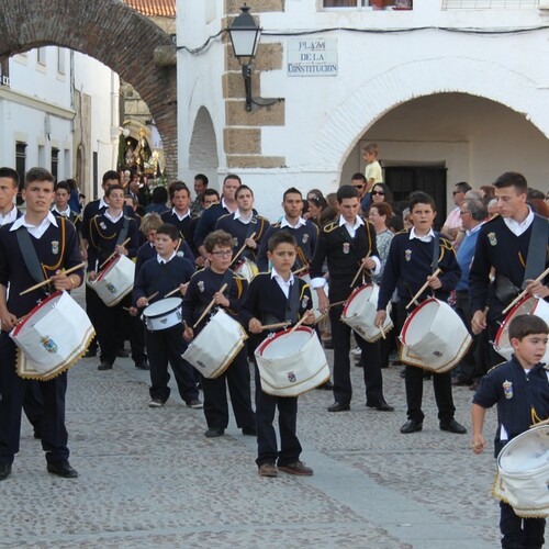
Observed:
[[[474,74],[470,80],[463,75]],[[494,86],[505,82],[505,86]],[[519,90],[519,92],[517,91]],[[312,158],[340,171],[352,147],[378,120],[395,107],[416,98],[458,92],[492,100],[525,116],[549,137],[545,90],[518,72],[479,59],[434,58],[399,65],[352,93],[327,117],[316,135]]]

